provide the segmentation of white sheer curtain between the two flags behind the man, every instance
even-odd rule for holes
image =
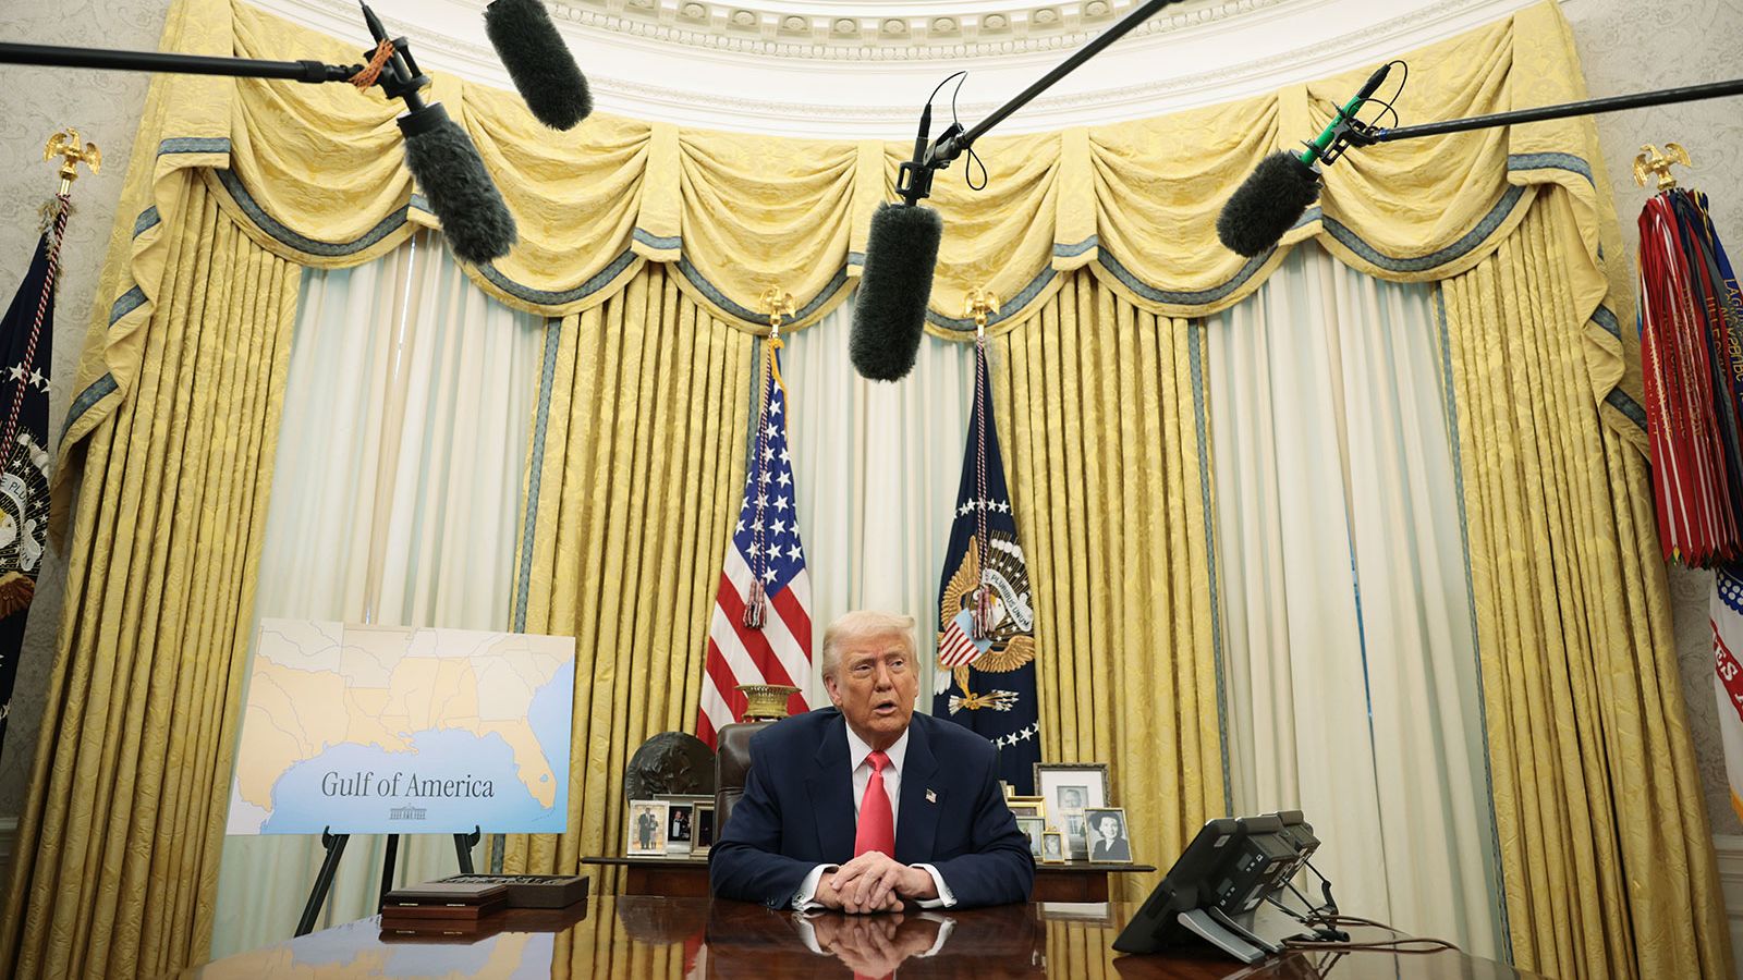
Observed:
[[[847,357],[852,305],[786,338],[788,434],[798,527],[810,568],[812,677],[828,704],[823,628],[852,609],[919,619],[922,652],[938,621],[962,446],[974,405],[974,347],[927,335],[913,373],[868,382]],[[933,657],[920,657],[920,710],[933,706]]]

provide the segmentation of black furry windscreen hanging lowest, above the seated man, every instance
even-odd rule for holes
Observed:
[[[898,382],[913,370],[926,335],[926,302],[945,220],[931,208],[878,204],[866,239],[866,265],[854,295],[847,352],[854,370],[875,382]]]

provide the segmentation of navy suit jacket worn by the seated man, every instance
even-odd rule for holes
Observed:
[[[744,797],[708,851],[715,895],[786,909],[810,868],[852,860],[849,764],[847,722],[835,708],[751,736]],[[898,807],[892,858],[936,867],[959,907],[1028,900],[1035,860],[999,792],[997,752],[985,738],[915,713]]]

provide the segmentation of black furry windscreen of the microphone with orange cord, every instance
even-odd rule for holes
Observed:
[[[406,167],[441,218],[453,253],[472,265],[509,255],[518,237],[514,216],[485,173],[478,146],[448,110],[424,106],[401,117],[399,129],[406,134]]]

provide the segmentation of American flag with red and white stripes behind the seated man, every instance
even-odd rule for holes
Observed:
[[[779,340],[769,344],[763,410],[744,481],[727,565],[720,570],[715,619],[708,626],[708,666],[695,734],[709,746],[715,732],[744,717],[739,684],[788,684],[802,692],[810,678],[810,575],[798,541],[793,464],[786,443],[786,385]],[[762,582],[762,626],[746,626],[753,584]],[[788,713],[809,711],[804,694],[788,698]]]

